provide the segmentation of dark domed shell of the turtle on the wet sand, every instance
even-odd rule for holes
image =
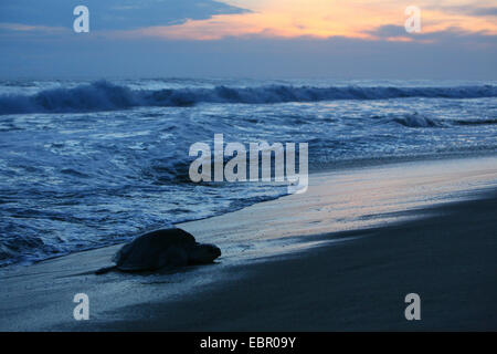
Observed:
[[[157,230],[137,237],[114,256],[116,267],[124,271],[157,270],[188,263],[195,238],[181,229]]]

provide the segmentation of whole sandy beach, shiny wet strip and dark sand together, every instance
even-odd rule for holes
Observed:
[[[7,271],[0,330],[497,330],[495,159],[426,166],[401,166],[396,179],[370,171],[368,183],[326,174],[306,195],[182,225],[225,246],[219,264],[92,274],[112,247]],[[478,199],[454,202],[461,192]],[[89,321],[73,319],[78,292]],[[404,319],[410,292],[421,295],[420,322]]]

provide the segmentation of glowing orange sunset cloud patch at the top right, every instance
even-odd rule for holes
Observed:
[[[226,0],[229,4],[252,10],[241,14],[220,14],[208,20],[188,20],[168,27],[134,31],[133,35],[165,39],[219,40],[228,37],[373,39],[374,29],[403,27],[404,9],[421,9],[422,32],[458,28],[466,32],[497,34],[495,18],[472,14],[495,7],[495,1],[444,0]],[[465,11],[467,10],[467,11]],[[405,35],[398,39],[409,41]]]

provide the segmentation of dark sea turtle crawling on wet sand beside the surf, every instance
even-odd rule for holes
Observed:
[[[221,256],[214,244],[202,244],[181,229],[171,228],[148,232],[123,246],[114,256],[113,267],[97,270],[104,274],[112,270],[151,271],[166,267],[211,263]]]

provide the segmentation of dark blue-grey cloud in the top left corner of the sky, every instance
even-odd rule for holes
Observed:
[[[85,0],[92,30],[133,30],[151,25],[204,20],[214,14],[246,13],[248,10],[214,0]],[[72,28],[73,9],[68,0],[1,0],[0,22],[25,25]]]

